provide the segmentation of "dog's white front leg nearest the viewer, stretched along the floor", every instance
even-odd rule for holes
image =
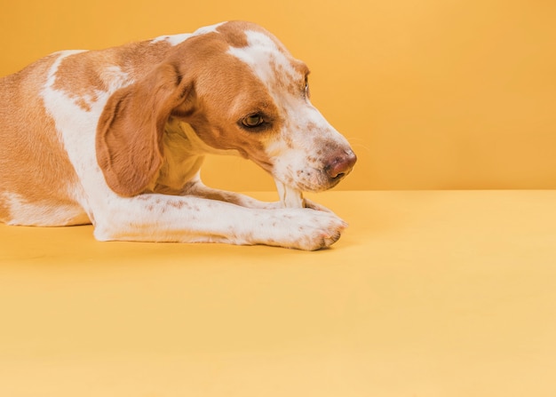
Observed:
[[[346,222],[311,209],[250,209],[193,196],[112,196],[95,214],[102,241],[227,242],[318,250],[338,241]],[[109,207],[109,208],[108,208]]]

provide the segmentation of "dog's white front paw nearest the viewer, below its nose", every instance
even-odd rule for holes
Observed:
[[[347,223],[335,214],[322,210],[299,210],[292,219],[290,248],[321,250],[337,242]]]

